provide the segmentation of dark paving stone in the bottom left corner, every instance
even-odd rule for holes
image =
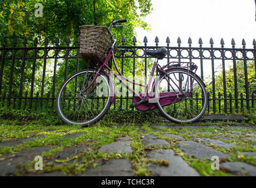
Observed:
[[[33,147],[1,156],[4,160],[0,160],[0,176],[10,176],[20,164],[32,162],[36,156],[51,149],[54,149],[54,146]]]

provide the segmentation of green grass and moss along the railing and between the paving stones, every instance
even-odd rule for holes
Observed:
[[[155,111],[153,111],[155,112]],[[152,172],[148,170],[151,162],[156,162],[163,166],[168,165],[165,162],[152,161],[147,158],[148,150],[155,149],[172,149],[176,155],[182,157],[198,173],[202,176],[231,176],[230,173],[222,170],[212,170],[211,160],[195,159],[193,156],[188,156],[182,152],[177,146],[180,142],[177,138],[170,138],[162,136],[163,134],[173,134],[184,137],[186,140],[193,140],[193,136],[184,133],[191,133],[200,137],[208,137],[210,139],[215,136],[229,137],[232,140],[222,139],[227,143],[234,143],[240,147],[232,147],[225,149],[222,147],[212,146],[206,143],[208,147],[219,150],[220,152],[228,153],[230,157],[226,159],[230,162],[246,162],[256,166],[255,159],[252,157],[245,157],[241,152],[256,152],[255,141],[248,140],[246,137],[252,137],[250,134],[255,133],[256,129],[242,129],[241,127],[234,128],[232,131],[241,132],[240,137],[235,136],[234,133],[228,132],[231,125],[245,125],[252,126],[247,122],[204,122],[204,123],[189,123],[183,127],[167,127],[166,125],[177,125],[175,123],[159,122],[157,113],[147,112],[133,112],[132,110],[118,112],[118,110],[110,110],[104,119],[100,120],[93,126],[80,127],[68,126],[61,122],[54,111],[47,112],[30,112],[22,110],[6,110],[0,109],[0,142],[16,139],[26,139],[32,136],[45,136],[36,140],[23,142],[15,146],[0,146],[0,161],[5,160],[8,154],[15,154],[21,150],[29,149],[39,146],[55,146],[46,152],[42,152],[44,159],[52,159],[56,154],[67,147],[87,143],[90,148],[78,156],[73,156],[72,160],[60,160],[58,164],[44,163],[44,170],[36,173],[61,172],[68,175],[81,174],[88,168],[94,168],[102,164],[102,162],[109,159],[127,159],[132,165],[134,174],[136,176],[150,176]],[[162,132],[154,132],[151,125],[158,125]],[[200,129],[193,129],[187,125],[211,125],[211,127],[202,127]],[[73,133],[84,132],[85,134],[78,136],[75,139],[65,138],[67,135]],[[146,147],[141,143],[142,136],[146,133],[158,136],[160,139],[166,140],[169,146]],[[102,153],[99,152],[101,146],[112,143],[119,137],[128,136],[131,141],[132,153]],[[195,141],[195,140],[194,140]],[[34,169],[35,162],[22,164],[16,169],[14,175],[28,174],[29,170]]]

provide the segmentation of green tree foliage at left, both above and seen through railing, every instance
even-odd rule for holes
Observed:
[[[35,8],[36,3],[43,5],[42,17],[36,17]],[[12,41],[17,39],[17,46],[22,46],[24,37],[27,38],[27,46],[34,46],[34,38],[38,38],[38,46],[45,46],[44,40],[46,36],[49,38],[48,46],[55,45],[56,37],[60,38],[59,46],[67,45],[67,37],[70,37],[70,46],[77,46],[77,39],[80,35],[79,26],[81,25],[105,25],[109,26],[112,21],[117,19],[128,19],[128,22],[122,24],[125,28],[114,28],[112,33],[117,39],[117,44],[121,45],[121,38],[125,36],[125,45],[132,45],[132,37],[135,35],[135,27],[149,29],[149,25],[143,21],[143,18],[152,10],[151,0],[1,0],[0,3],[0,46],[13,46]],[[58,52],[59,55],[64,56],[67,53],[64,50]],[[77,51],[69,51],[70,56],[75,56]],[[38,56],[44,55],[44,50],[37,52]],[[54,51],[48,52],[49,56],[54,56]],[[0,93],[8,92],[9,78],[11,76],[11,56],[12,52],[6,52],[9,59],[4,61],[4,74],[2,78],[2,89]],[[19,50],[15,56],[22,56],[22,51]],[[27,56],[32,57],[33,51],[28,51]],[[125,76],[132,75],[132,59],[126,59],[124,62]],[[23,92],[31,89],[32,80],[32,59],[25,59],[24,83]],[[58,59],[56,69],[56,92],[65,78],[65,65],[67,67],[67,77],[77,70],[77,59]],[[117,59],[118,67],[121,67],[121,60]],[[151,68],[152,62],[148,62],[148,69]],[[22,59],[15,59],[12,93],[14,91],[18,94],[21,80],[21,66]],[[35,80],[34,93],[39,92],[41,96],[42,88],[42,74],[43,74],[44,59],[36,59],[35,63]],[[141,74],[141,68],[144,66],[143,61],[136,60],[136,75]],[[53,67],[54,59],[47,59],[44,96],[47,92],[52,93],[53,82]],[[83,59],[79,60],[78,69],[86,68],[86,62]],[[28,96],[30,93],[28,93]]]

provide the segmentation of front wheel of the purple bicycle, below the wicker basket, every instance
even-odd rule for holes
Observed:
[[[59,88],[56,96],[56,110],[67,124],[88,126],[101,119],[111,106],[112,85],[104,72],[90,88],[87,88],[97,70],[84,69],[75,72]]]

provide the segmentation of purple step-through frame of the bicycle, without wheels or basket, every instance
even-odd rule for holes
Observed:
[[[117,70],[118,75],[121,76],[121,78],[119,78],[119,76],[117,75],[117,73],[115,73],[115,72],[114,72],[111,68],[109,68],[109,66],[107,65],[107,62],[108,62],[110,56],[112,56],[115,69]],[[170,63],[174,63],[174,62],[170,62]],[[94,79],[92,79],[92,82],[87,86],[87,88],[85,88],[85,90],[84,90],[82,93],[80,93],[80,95],[83,95],[83,94],[93,85],[93,83],[94,83],[95,80],[97,79],[97,77],[98,77],[100,71],[103,71],[104,73],[106,73],[106,75],[108,75],[108,73],[105,72],[105,70],[104,70],[104,68],[106,68],[106,69],[108,69],[109,71],[113,72],[115,78],[117,78],[117,79],[119,80],[119,82],[121,82],[121,84],[123,84],[130,92],[132,92],[135,96],[139,97],[139,98],[141,99],[141,102],[149,101],[149,103],[150,103],[150,102],[151,102],[151,103],[155,103],[155,102],[157,102],[160,98],[169,98],[169,97],[173,97],[173,96],[177,96],[177,97],[178,97],[178,96],[184,96],[184,95],[185,95],[185,96],[189,96],[190,93],[192,92],[192,84],[193,84],[193,82],[194,82],[195,72],[197,71],[197,66],[196,66],[196,69],[195,69],[195,72],[194,72],[194,78],[191,80],[191,83],[190,83],[191,87],[189,88],[189,79],[187,78],[185,88],[187,87],[187,91],[188,91],[188,92],[184,92],[184,91],[174,82],[174,80],[172,80],[172,79],[169,77],[169,75],[166,73],[166,70],[169,70],[169,69],[171,69],[171,68],[177,68],[177,66],[174,66],[174,67],[169,66],[170,63],[168,63],[167,65],[161,67],[161,66],[158,64],[158,62],[155,61],[155,62],[154,62],[154,65],[153,65],[153,68],[152,68],[152,71],[151,71],[151,75],[150,75],[148,84],[147,84],[147,85],[144,85],[144,84],[141,84],[141,83],[137,83],[137,82],[131,81],[131,80],[125,78],[124,75],[122,75],[122,73],[119,71],[119,69],[118,69],[118,67],[117,67],[117,63],[115,62],[114,52],[112,51],[112,49],[110,49],[109,52],[108,52],[107,57],[105,58],[104,63],[102,63],[102,65],[99,66],[99,69],[98,69],[98,71],[97,71],[97,73],[96,73]],[[177,62],[177,63],[187,63],[187,71],[188,71],[188,73],[189,73],[189,66],[188,66],[188,65],[189,65],[189,63],[191,63],[191,62]],[[179,66],[179,67],[180,67],[180,66]],[[154,86],[155,86],[155,80],[157,80],[157,78],[156,78],[156,79],[154,80],[153,85],[152,85],[151,93],[148,93],[148,92],[149,92],[149,87],[150,87],[150,85],[151,85],[152,78],[153,78],[153,75],[154,75],[154,72],[155,72],[155,69],[156,69],[156,68],[159,68],[159,71],[160,71],[160,73],[159,73],[159,75],[158,75],[158,78],[159,78],[159,76],[161,76],[162,73],[165,73],[165,75],[167,75],[167,77],[169,78],[169,80],[171,80],[171,81],[174,83],[174,85],[178,88],[179,92],[169,92],[168,95],[159,96],[158,98],[155,98],[155,96],[154,96]],[[167,68],[167,69],[166,69],[166,68]],[[181,67],[180,67],[180,68],[181,68]],[[183,68],[184,68],[184,67],[183,67]],[[113,82],[113,80],[111,79],[111,76],[108,75],[108,77],[109,77],[109,79],[111,80],[111,83],[114,85],[114,82]],[[143,95],[139,95],[137,92],[135,92],[134,89],[130,88],[130,87],[127,85],[127,83],[124,82],[124,80],[127,81],[127,82],[129,82],[129,83],[132,83],[132,84],[135,84],[135,85],[138,85],[138,86],[141,86],[141,87],[146,88],[145,95],[144,95],[144,96],[143,96]],[[167,80],[167,81],[168,81],[168,80]],[[169,85],[171,86],[171,88],[172,88],[172,85],[171,85],[171,83],[169,83],[169,81],[168,81],[168,84],[169,84]],[[89,93],[91,93],[91,92],[96,88],[96,86],[97,86],[97,85],[95,85],[95,86],[89,91]],[[174,88],[172,88],[172,89],[174,90]],[[113,93],[114,96],[115,96],[115,89],[114,89],[114,87],[113,87],[112,93]],[[114,99],[113,99],[111,102],[113,103],[113,102],[114,102]]]

